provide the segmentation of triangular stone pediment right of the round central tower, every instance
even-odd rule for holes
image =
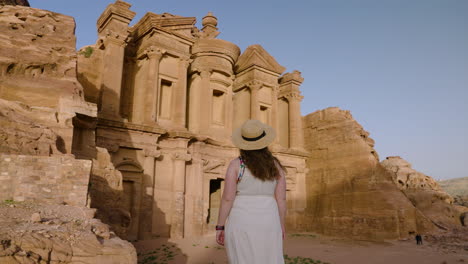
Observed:
[[[281,66],[261,45],[251,45],[242,53],[234,66],[235,72],[240,73],[252,66],[270,70],[281,74],[286,68]]]

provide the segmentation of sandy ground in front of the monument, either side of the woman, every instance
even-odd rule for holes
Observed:
[[[198,239],[155,239],[135,242],[139,263],[224,264],[228,263],[224,247],[214,236]],[[369,242],[322,237],[314,234],[290,234],[284,242],[284,254],[301,257],[288,263],[330,264],[452,264],[468,263],[468,245],[464,249],[447,249],[410,241]],[[303,260],[310,258],[312,260]],[[301,260],[302,259],[302,260]],[[246,263],[255,264],[255,263]]]

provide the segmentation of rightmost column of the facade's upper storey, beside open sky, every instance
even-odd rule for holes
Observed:
[[[289,147],[292,149],[304,148],[302,132],[301,101],[304,98],[299,93],[285,95],[289,103]]]

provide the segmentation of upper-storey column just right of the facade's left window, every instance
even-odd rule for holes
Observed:
[[[173,105],[174,124],[179,128],[185,128],[187,112],[187,68],[190,65],[190,59],[179,59],[179,81],[176,87]]]

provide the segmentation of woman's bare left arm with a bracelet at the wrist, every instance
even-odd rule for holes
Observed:
[[[221,199],[221,206],[219,208],[218,224],[223,226],[231,211],[234,198],[236,198],[237,191],[237,174],[239,173],[240,162],[239,159],[234,159],[229,164],[224,178],[224,191]]]

